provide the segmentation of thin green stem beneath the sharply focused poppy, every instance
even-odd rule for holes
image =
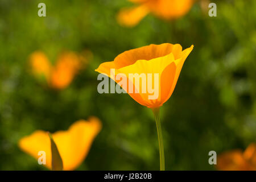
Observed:
[[[163,135],[159,117],[159,108],[152,109],[155,115],[156,129],[158,131],[158,143],[159,143],[159,154],[160,154],[160,171],[164,171],[164,147],[163,147]]]

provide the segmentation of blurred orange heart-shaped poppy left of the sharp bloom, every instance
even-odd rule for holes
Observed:
[[[67,87],[81,69],[85,60],[84,57],[79,57],[74,52],[64,52],[53,67],[43,52],[36,51],[30,56],[30,64],[34,75],[44,76],[48,85],[55,89]]]

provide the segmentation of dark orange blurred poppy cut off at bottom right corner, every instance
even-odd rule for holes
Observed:
[[[244,152],[233,150],[218,155],[216,167],[221,171],[256,170],[256,144],[250,144]]]

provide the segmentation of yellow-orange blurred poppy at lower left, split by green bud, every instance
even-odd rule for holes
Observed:
[[[93,139],[100,130],[100,120],[92,117],[88,121],[80,120],[73,123],[67,131],[57,131],[52,134],[63,160],[64,170],[73,170],[82,163],[89,152]],[[35,131],[20,139],[18,145],[21,150],[35,159],[39,158],[39,151],[44,151],[46,153],[46,167],[51,169],[51,142],[46,131]]]

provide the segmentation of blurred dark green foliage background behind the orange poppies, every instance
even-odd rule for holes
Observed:
[[[38,3],[46,3],[46,17]],[[148,44],[195,46],[162,121],[167,170],[214,170],[208,152],[245,149],[256,138],[256,1],[211,1],[177,20],[150,14],[134,28],[116,21],[126,0],[0,0],[0,169],[45,170],[17,142],[35,130],[67,130],[95,115],[102,130],[78,170],[158,170],[154,116],[128,94],[99,94],[103,61]],[[71,85],[53,90],[31,75],[36,50],[52,63],[63,50],[90,49],[93,60]]]

